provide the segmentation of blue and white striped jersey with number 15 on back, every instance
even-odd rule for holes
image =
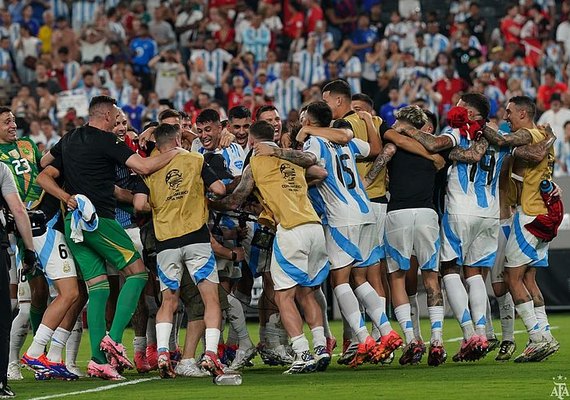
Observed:
[[[374,223],[375,216],[356,169],[356,157],[366,157],[370,146],[353,139],[348,145],[311,136],[303,151],[314,154],[328,176],[310,193],[313,207],[331,227]]]

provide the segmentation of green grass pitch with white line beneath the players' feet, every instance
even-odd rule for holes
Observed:
[[[12,389],[19,399],[68,398],[68,399],[294,399],[294,400],[338,400],[338,399],[556,399],[553,378],[568,378],[570,386],[570,314],[552,314],[552,333],[560,342],[560,351],[541,363],[515,364],[512,361],[498,363],[495,354],[489,354],[476,363],[454,363],[451,356],[457,351],[460,336],[455,320],[447,319],[444,324],[445,348],[448,362],[433,368],[428,367],[424,357],[422,364],[400,366],[396,352],[392,365],[364,365],[356,370],[336,363],[339,349],[324,373],[285,376],[282,367],[266,367],[259,357],[255,366],[243,373],[241,386],[216,386],[211,378],[176,378],[160,380],[157,373],[139,375],[136,372],[125,374],[127,381],[107,382],[99,379],[82,378],[77,382],[47,381],[36,382],[33,375],[24,371],[25,379],[11,382]],[[397,326],[397,323],[393,323]],[[254,338],[257,338],[256,324],[249,324]],[[495,321],[495,329],[500,325]],[[515,335],[519,354],[524,348],[527,334],[520,320],[517,320]],[[342,324],[332,323],[333,333],[342,337]],[[399,330],[399,329],[398,329]],[[181,332],[182,334],[183,332]],[[422,333],[429,336],[429,321],[422,320]],[[181,337],[183,337],[181,335]],[[133,332],[125,334],[125,343],[132,357]],[[499,337],[500,338],[500,337]],[[30,338],[28,337],[29,343]],[[340,344],[339,344],[340,345]],[[89,339],[84,334],[78,360],[81,367],[87,365]],[[139,379],[153,380],[138,381]],[[133,382],[130,385],[115,386],[117,383]],[[111,385],[109,390],[101,388]],[[88,390],[96,390],[84,392]],[[65,397],[64,397],[65,396]],[[567,397],[570,399],[570,396]]]

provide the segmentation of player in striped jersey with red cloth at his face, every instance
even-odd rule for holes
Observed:
[[[489,100],[479,93],[463,94],[457,104],[470,123],[483,125]],[[437,152],[453,148],[442,218],[442,275],[449,304],[461,325],[464,340],[454,361],[478,360],[486,354],[487,290],[482,268],[495,262],[499,235],[498,175],[506,156],[484,138],[458,128],[433,136],[408,129],[406,135]],[[471,146],[473,144],[473,146]],[[469,151],[464,151],[469,149]],[[466,291],[459,269],[463,267]]]

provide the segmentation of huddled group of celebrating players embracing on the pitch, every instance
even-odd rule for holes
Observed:
[[[287,374],[324,371],[336,346],[321,289],[327,278],[344,322],[339,363],[390,363],[401,347],[402,365],[426,351],[429,365],[445,362],[442,286],[463,331],[453,361],[496,348],[497,360],[509,360],[515,310],[529,334],[515,361],[546,359],[559,344],[535,274],[548,265],[559,224],[549,213],[558,189],[550,203],[540,191],[552,177],[555,136],[534,124],[530,98],[509,100],[508,134],[486,122],[489,108],[484,95],[466,93],[440,134],[437,118],[417,106],[400,109],[388,126],[372,115],[368,96],[337,80],[287,134],[273,106],[261,107],[255,122],[238,106],[228,121],[205,109],[195,126],[169,109],[137,136],[114,99],[98,96],[88,124],[43,156],[17,139],[14,115],[0,108],[0,161],[33,210],[33,248],[8,228],[11,271],[19,271],[9,376],[21,379],[21,364],[36,379],[81,376],[85,304],[89,376],[120,380],[132,368],[158,369],[162,378],[218,376],[252,365],[257,354]],[[489,273],[501,342],[490,320]],[[254,345],[244,306],[258,276]],[[387,317],[387,298],[402,336]],[[34,338],[20,360],[28,322]],[[129,323],[134,363],[123,345]]]

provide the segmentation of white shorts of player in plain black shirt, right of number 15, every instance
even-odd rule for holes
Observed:
[[[412,255],[422,270],[438,271],[439,225],[437,213],[429,208],[408,208],[386,215],[384,247],[388,272],[410,269]]]

